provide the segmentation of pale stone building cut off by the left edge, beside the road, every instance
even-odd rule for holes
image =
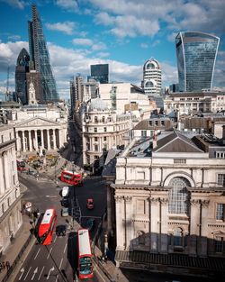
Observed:
[[[14,128],[0,125],[0,257],[22,226]]]

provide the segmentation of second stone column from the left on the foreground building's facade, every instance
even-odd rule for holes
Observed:
[[[129,249],[130,241],[133,239],[133,225],[132,225],[132,197],[124,196],[124,205],[125,205],[125,213],[126,213],[126,246],[125,249]]]

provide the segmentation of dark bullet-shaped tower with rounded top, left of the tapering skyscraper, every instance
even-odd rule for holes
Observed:
[[[20,51],[15,67],[15,93],[23,105],[27,104],[26,74],[29,72],[30,56],[24,48]]]

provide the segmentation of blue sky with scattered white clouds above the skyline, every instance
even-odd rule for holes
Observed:
[[[109,64],[110,81],[140,86],[143,65],[157,59],[162,86],[178,82],[175,36],[207,32],[220,37],[213,87],[225,90],[224,0],[0,0],[0,93],[14,91],[16,59],[28,47],[31,5],[37,5],[50,63],[63,99],[69,80],[86,78],[90,65]]]

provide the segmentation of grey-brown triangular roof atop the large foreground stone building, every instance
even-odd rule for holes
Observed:
[[[182,153],[200,153],[200,150],[190,139],[180,132],[174,131],[157,142],[155,152],[182,152]]]

